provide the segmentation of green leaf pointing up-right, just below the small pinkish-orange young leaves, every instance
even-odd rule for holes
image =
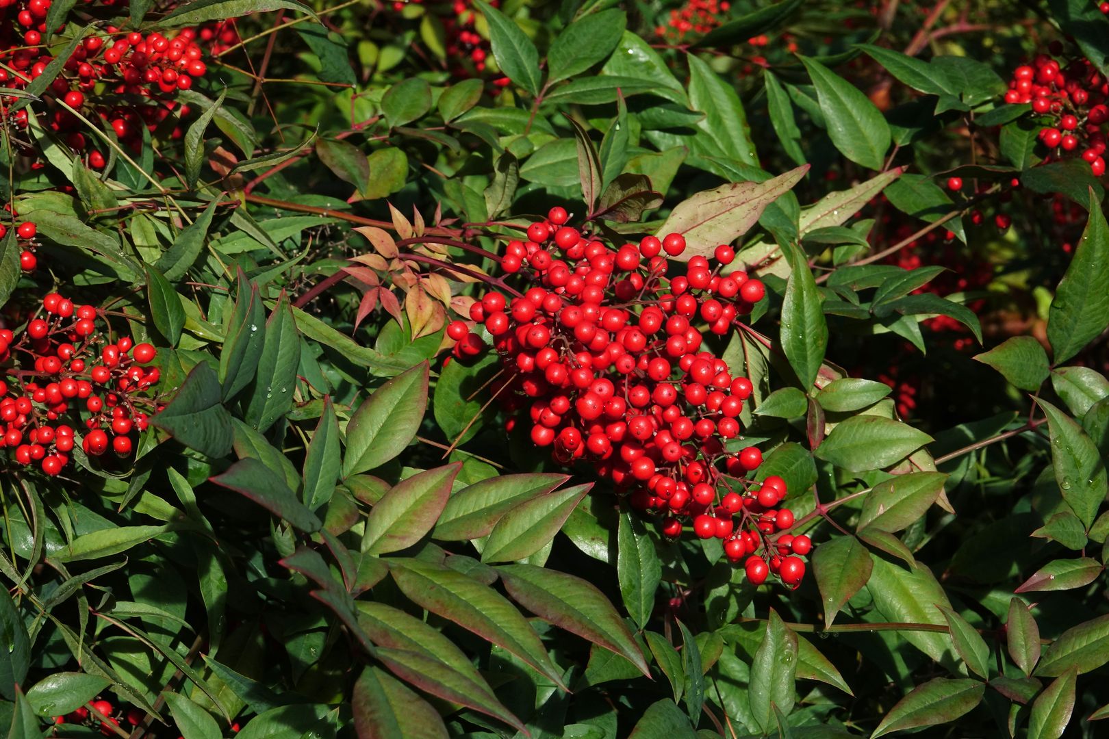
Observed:
[[[343,476],[378,468],[404,451],[427,410],[430,368],[420,362],[398,374],[365,400],[346,429]]]

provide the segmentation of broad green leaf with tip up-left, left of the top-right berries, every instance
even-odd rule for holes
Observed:
[[[855,85],[814,59],[800,57],[816,88],[828,136],[852,162],[881,170],[889,150],[889,125]]]

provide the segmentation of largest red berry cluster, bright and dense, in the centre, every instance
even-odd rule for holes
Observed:
[[[593,464],[632,507],[658,515],[665,536],[691,521],[696,536],[722,540],[728,558],[745,563],[751,582],[773,573],[797,586],[805,572],[797,555],[812,542],[771,540],[794,523],[779,507],[785,482],[746,480],[762,453],[724,445],[740,433],[751,381],[733,377],[704,341],[731,332],[763,299],[763,284],[742,270],[725,274],[735,259],[728,245],[716,247],[715,265],[694,256],[668,278],[663,253],[684,252],[680,234],[612,249],[567,220],[552,208],[527,242],[508,244],[500,267],[529,278],[529,289],[511,299],[492,290],[470,308],[503,365],[494,393],[531,422],[537,447],[559,463]],[[456,358],[482,351],[465,321],[447,331]]]

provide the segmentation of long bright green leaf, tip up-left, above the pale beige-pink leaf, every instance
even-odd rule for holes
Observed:
[[[704,113],[704,119],[695,126],[698,137],[711,142],[713,153],[757,166],[759,157],[751,141],[747,116],[735,88],[720,79],[695,54],[686,54],[685,59],[690,66],[690,110]],[[734,235],[720,243],[728,244],[732,239]]]

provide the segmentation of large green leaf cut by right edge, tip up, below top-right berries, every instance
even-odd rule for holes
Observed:
[[[1109,226],[1090,189],[1090,216],[1051,300],[1047,338],[1055,363],[1082,350],[1109,325]]]

